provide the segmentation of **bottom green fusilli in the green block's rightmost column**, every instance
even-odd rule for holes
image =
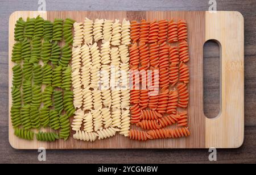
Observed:
[[[60,139],[68,140],[70,135],[70,123],[67,114],[60,116]]]

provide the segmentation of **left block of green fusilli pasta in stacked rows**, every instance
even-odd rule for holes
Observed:
[[[26,21],[19,18],[15,24],[11,122],[19,138],[69,138],[69,118],[75,113],[69,66],[74,22],[69,18],[51,22],[37,16]],[[41,128],[51,128],[52,132],[42,132]]]

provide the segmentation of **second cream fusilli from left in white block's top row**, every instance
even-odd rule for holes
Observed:
[[[93,20],[85,18],[84,20],[84,42],[92,44],[93,42]]]

